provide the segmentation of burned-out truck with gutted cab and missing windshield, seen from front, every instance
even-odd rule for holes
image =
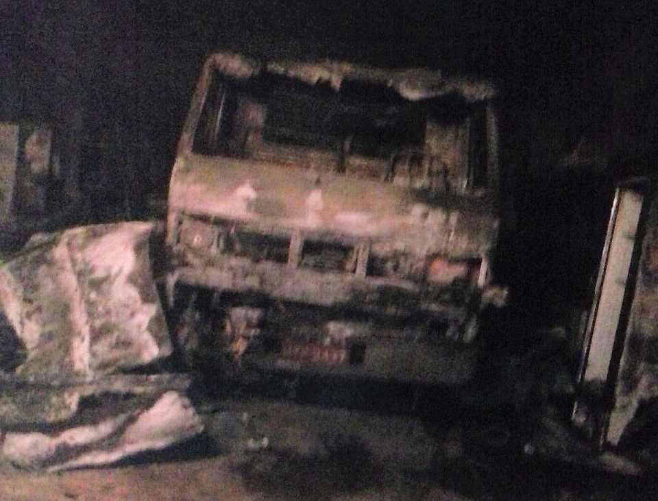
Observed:
[[[470,378],[464,347],[501,295],[497,141],[488,82],[210,56],[167,247],[170,300],[203,295],[212,318],[205,334],[182,322],[178,342],[272,370]]]

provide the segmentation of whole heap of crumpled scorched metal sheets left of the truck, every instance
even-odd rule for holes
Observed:
[[[152,230],[134,222],[39,236],[0,265],[6,459],[100,465],[202,431],[186,376],[125,374],[172,351],[151,276]]]

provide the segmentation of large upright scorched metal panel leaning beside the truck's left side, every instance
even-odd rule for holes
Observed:
[[[150,223],[66,230],[0,267],[0,306],[24,343],[16,374],[93,378],[171,354],[151,278]]]

